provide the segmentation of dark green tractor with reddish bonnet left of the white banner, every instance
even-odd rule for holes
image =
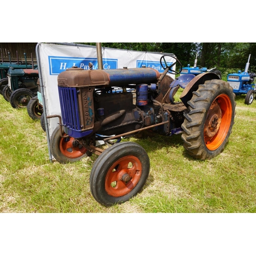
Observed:
[[[37,69],[13,69],[8,70],[8,86],[3,89],[3,96],[10,101],[15,109],[27,108],[31,98],[36,96],[38,87]]]

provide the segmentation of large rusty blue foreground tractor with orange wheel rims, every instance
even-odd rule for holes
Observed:
[[[168,60],[172,58],[172,60]],[[173,61],[175,59],[175,61]],[[173,61],[173,62],[171,62]],[[61,116],[50,138],[50,151],[60,163],[95,153],[90,175],[91,193],[102,205],[122,203],[135,196],[150,172],[144,148],[122,138],[149,130],[161,135],[181,135],[188,155],[210,159],[220,154],[234,123],[236,102],[232,88],[214,73],[173,80],[182,67],[172,55],[160,58],[164,72],[152,68],[83,70],[67,69],[58,75]],[[167,64],[171,63],[171,64]],[[176,67],[177,68],[177,67]],[[178,69],[179,70],[179,69]],[[174,101],[172,90],[187,86]],[[113,93],[112,87],[122,88]],[[132,93],[136,90],[136,104]],[[172,92],[172,93],[171,93]],[[96,146],[102,140],[109,147]]]

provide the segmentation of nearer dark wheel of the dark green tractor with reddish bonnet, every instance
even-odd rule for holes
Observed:
[[[19,88],[13,91],[10,96],[10,103],[12,108],[27,108],[27,105],[33,96],[33,92],[26,88]]]

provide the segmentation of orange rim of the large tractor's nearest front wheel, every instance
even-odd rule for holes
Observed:
[[[139,182],[141,174],[142,166],[137,157],[126,156],[118,159],[106,174],[106,193],[113,197],[128,194]]]

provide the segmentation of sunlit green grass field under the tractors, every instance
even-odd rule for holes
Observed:
[[[214,159],[186,155],[180,135],[130,138],[150,157],[150,176],[136,197],[104,207],[89,185],[97,156],[51,163],[40,122],[0,96],[0,212],[256,212],[256,100],[244,98],[236,97],[232,134]]]

